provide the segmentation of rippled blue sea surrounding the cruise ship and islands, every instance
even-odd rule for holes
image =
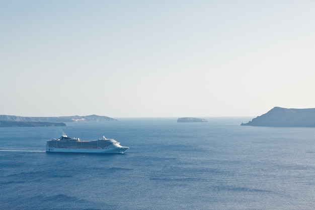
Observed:
[[[314,209],[315,128],[253,117],[118,118],[0,128],[0,209]],[[63,134],[125,154],[46,153]]]

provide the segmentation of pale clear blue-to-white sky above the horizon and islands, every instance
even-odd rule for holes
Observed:
[[[315,1],[0,1],[0,114],[315,108]]]

